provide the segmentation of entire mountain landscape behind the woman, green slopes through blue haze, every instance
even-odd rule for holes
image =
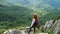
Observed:
[[[30,26],[34,13],[38,14],[38,28],[50,19],[60,19],[60,0],[0,0],[0,33]]]

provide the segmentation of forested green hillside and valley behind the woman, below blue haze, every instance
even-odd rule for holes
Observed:
[[[60,10],[54,9],[31,9],[23,6],[0,5],[0,29],[30,26],[32,14],[37,13],[39,25],[45,24],[46,20],[60,18]]]

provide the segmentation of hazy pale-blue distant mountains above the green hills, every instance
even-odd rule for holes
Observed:
[[[33,8],[60,8],[60,0],[0,0],[0,4],[23,5]]]

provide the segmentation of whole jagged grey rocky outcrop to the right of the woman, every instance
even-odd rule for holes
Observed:
[[[51,29],[53,29],[54,34],[58,34],[60,30],[60,19],[46,21],[45,25],[43,26],[43,29],[47,31],[50,31]]]

